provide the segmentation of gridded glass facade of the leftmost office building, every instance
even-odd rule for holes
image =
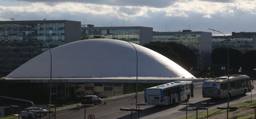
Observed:
[[[65,44],[65,23],[0,24],[0,77],[33,57]]]

